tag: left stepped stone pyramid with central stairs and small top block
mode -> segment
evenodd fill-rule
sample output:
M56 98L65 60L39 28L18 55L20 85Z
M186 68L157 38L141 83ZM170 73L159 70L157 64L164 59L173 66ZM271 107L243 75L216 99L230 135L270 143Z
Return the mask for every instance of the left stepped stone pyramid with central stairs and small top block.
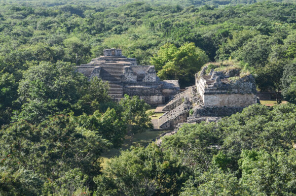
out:
M160 81L154 66L141 66L136 59L122 56L120 49L106 49L104 56L77 66L88 78L108 81L111 98L119 100L124 94L139 96L150 105L163 104L179 93L178 80Z

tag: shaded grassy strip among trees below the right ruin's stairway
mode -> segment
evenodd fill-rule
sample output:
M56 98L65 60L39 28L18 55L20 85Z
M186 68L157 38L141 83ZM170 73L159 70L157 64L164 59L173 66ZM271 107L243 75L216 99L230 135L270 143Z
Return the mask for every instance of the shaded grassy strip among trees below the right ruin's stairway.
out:
M127 150L131 146L146 146L152 139L156 138L158 135L160 135L163 132L165 131L146 131L143 133L135 134L132 144L130 143L130 137L126 135L120 149L113 148L109 152L106 152L102 155L103 163L101 163L101 166L105 167L106 163L110 161L111 158L119 156L120 151Z

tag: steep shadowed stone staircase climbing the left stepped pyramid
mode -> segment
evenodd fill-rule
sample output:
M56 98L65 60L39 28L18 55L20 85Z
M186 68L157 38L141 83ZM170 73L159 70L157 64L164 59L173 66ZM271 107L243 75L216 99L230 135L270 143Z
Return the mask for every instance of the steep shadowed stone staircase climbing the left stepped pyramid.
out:
M101 65L101 78L104 82L109 82L109 96L114 100L123 98L123 84L121 75L125 65Z

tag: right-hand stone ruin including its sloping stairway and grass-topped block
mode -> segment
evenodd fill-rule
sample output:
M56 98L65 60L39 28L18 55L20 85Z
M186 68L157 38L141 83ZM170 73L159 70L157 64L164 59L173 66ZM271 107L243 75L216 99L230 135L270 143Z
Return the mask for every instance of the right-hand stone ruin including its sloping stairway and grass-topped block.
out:
M235 65L210 65L195 75L194 86L162 107L165 113L153 119L155 129L174 130L182 123L217 121L259 102L252 74Z

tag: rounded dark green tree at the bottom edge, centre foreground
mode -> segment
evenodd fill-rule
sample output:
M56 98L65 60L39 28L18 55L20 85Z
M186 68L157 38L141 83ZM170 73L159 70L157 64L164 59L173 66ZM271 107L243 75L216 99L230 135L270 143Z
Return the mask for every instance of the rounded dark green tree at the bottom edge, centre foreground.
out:
M155 144L131 148L107 164L96 179L96 196L178 195L187 180L186 167Z

